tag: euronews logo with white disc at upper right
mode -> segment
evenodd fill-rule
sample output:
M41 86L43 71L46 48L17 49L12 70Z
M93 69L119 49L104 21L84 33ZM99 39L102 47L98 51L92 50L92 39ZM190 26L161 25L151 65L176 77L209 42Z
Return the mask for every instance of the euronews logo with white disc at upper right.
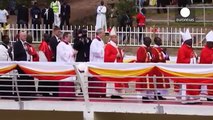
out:
M189 9L187 7L181 8L176 14L176 22L195 22L195 12L194 9Z

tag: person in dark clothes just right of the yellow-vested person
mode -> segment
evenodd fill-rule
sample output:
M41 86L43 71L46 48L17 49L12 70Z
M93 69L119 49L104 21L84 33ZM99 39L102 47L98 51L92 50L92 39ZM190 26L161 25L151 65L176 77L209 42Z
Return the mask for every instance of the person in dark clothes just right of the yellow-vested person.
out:
M66 25L69 28L70 25L70 5L67 4L66 1L61 5L61 29Z

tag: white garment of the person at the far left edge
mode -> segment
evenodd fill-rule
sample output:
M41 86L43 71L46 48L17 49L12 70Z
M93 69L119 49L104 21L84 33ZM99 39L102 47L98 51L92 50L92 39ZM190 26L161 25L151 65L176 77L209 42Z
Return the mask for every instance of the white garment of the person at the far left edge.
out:
M8 49L4 45L0 45L0 61L11 61Z

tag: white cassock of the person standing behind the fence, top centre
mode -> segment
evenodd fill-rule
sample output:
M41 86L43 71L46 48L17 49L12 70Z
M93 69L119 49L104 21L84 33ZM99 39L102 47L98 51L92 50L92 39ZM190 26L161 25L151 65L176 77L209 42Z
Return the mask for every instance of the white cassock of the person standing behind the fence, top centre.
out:
M104 28L104 30L107 31L106 12L107 8L105 6L98 6L95 26L96 30Z

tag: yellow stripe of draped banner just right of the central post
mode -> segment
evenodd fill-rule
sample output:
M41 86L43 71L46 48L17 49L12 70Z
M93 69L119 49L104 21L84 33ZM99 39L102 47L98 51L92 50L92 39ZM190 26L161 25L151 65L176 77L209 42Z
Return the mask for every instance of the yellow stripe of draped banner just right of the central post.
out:
M145 69L138 70L112 70L112 69L100 69L89 67L89 71L92 71L99 75L113 76L113 77L123 77L123 76L139 76L150 72L154 67L148 67Z

